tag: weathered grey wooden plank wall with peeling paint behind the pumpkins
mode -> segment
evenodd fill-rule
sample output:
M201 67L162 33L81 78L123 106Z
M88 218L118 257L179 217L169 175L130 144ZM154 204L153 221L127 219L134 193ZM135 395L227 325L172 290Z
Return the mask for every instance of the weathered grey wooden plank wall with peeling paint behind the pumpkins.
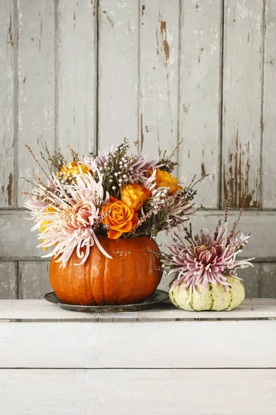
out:
M195 228L249 194L256 259L240 275L248 297L276 297L275 36L275 0L1 1L0 297L50 291L24 220L21 176L37 171L24 145L68 156L124 137L150 156L184 140L181 181L209 174Z

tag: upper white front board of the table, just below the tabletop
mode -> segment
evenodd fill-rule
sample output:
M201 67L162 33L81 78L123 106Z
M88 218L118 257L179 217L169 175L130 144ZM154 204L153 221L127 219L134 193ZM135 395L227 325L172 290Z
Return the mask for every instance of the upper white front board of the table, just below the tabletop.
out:
M276 320L0 323L1 368L276 368L275 346Z

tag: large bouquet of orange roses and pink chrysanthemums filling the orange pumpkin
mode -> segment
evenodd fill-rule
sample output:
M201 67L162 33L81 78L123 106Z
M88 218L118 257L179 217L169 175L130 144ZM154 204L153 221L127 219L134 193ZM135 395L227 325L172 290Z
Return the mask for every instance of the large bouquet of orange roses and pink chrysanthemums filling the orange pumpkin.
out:
M169 157L165 152L149 160L130 153L125 140L97 155L79 157L71 149L68 163L61 151L51 156L47 146L43 148L41 158L49 172L28 147L45 179L33 172L36 182L24 205L36 222L32 230L39 230L39 246L52 248L44 257L54 256L62 266L74 250L83 264L95 244L110 257L98 234L114 240L156 237L162 230L179 227L195 212L195 181L182 187L172 176L176 149Z

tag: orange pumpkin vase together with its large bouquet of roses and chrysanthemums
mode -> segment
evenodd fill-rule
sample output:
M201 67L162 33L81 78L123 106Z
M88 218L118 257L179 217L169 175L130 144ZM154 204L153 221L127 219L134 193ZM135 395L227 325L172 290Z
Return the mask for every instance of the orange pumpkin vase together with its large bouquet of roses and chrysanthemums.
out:
M40 163L28 147L45 177L33 172L25 207L39 246L50 248L44 257L52 257L55 294L66 304L143 302L162 275L154 238L195 212L195 181L181 187L171 174L173 154L135 156L126 140L97 155L79 157L71 149L70 163L61 151L51 156L43 148Z

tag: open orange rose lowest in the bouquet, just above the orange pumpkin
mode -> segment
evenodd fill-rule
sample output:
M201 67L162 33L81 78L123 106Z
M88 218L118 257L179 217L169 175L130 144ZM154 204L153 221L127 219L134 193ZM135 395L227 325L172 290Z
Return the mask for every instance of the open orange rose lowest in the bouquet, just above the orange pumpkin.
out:
M100 214L108 212L102 222L109 226L108 238L118 239L124 232L130 232L138 223L134 209L110 196L111 201L101 208Z

